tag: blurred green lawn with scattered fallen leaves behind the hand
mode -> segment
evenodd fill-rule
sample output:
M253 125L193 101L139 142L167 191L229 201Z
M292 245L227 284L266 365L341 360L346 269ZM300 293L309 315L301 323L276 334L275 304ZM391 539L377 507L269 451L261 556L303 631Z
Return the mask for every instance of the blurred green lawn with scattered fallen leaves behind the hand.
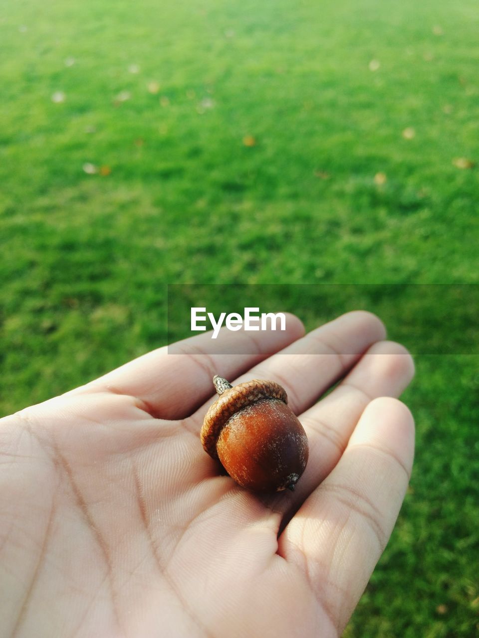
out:
M4 0L0 415L167 343L167 283L478 283L478 33L476 0ZM416 355L417 452L344 635L473 637L477 343L403 317L471 319L368 304Z

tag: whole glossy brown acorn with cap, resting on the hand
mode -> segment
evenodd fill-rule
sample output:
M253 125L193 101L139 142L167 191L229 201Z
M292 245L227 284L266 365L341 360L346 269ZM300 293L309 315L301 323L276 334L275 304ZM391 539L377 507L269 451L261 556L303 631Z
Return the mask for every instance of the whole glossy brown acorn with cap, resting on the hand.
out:
M201 443L239 485L255 492L294 490L308 461L308 438L285 389L254 379L232 387L221 376L206 413Z

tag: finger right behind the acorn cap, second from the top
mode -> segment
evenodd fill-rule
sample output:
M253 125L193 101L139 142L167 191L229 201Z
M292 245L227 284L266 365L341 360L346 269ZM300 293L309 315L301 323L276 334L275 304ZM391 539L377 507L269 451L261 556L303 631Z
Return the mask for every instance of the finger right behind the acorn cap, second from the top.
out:
M263 360L233 383L254 378L276 381L286 390L293 412L299 414L343 376L370 345L384 339L385 334L377 316L364 311L347 313ZM204 405L198 410L197 423L207 409L208 405Z

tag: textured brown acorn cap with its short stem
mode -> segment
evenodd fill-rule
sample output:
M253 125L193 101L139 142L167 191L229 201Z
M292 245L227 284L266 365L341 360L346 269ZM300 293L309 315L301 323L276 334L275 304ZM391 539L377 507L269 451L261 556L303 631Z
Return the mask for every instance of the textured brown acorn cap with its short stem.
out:
M217 377L215 377L216 379ZM218 387L216 382L215 385ZM238 385L222 392L215 403L210 406L201 427L201 443L209 456L218 459L218 436L230 417L260 399L279 399L286 404L288 402L286 391L279 383L261 379L238 383Z

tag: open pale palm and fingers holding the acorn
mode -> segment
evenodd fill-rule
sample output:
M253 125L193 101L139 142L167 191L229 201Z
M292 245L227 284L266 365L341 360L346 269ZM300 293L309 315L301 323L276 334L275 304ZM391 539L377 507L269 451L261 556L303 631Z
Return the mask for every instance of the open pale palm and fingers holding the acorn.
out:
M406 493L411 357L364 312L218 339L241 354L201 334L0 420L2 635L341 634ZM215 374L285 387L310 444L294 493L219 475L199 441Z

